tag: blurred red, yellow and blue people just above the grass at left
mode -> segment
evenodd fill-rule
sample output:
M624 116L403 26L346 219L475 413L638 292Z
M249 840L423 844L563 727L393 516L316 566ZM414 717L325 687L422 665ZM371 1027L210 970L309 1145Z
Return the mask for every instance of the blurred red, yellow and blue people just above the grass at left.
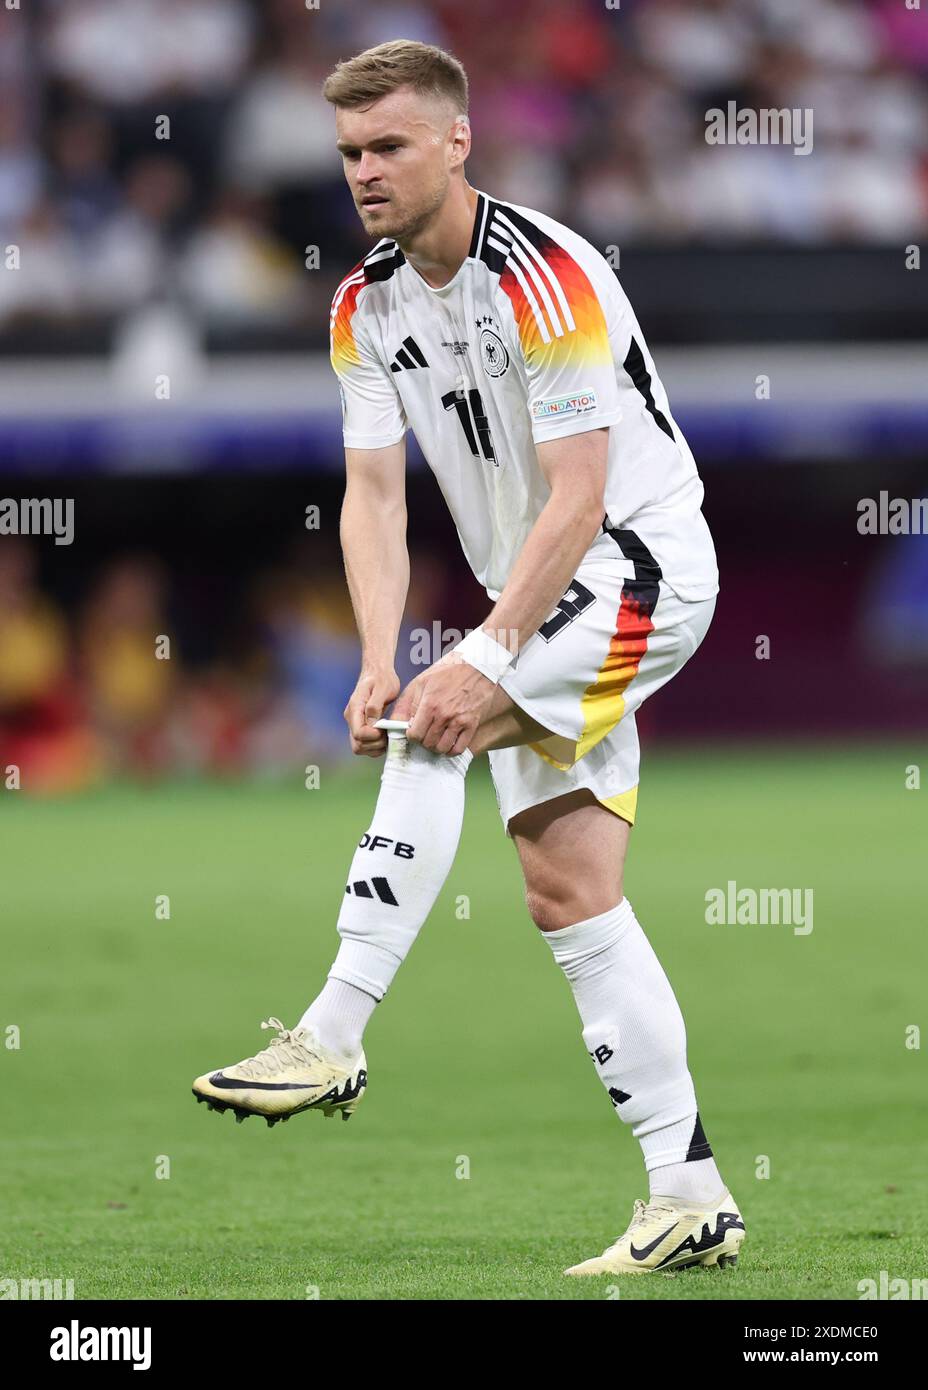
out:
M320 545L311 564L307 555L293 548L249 577L232 644L204 659L201 614L185 623L182 610L190 589L158 559L115 557L81 602L60 603L40 584L33 545L3 537L0 780L13 767L22 790L56 794L114 776L285 776L350 760L342 712L360 667L354 619L338 557ZM432 637L449 581L426 550L413 549L411 567L403 685L440 655L421 634Z

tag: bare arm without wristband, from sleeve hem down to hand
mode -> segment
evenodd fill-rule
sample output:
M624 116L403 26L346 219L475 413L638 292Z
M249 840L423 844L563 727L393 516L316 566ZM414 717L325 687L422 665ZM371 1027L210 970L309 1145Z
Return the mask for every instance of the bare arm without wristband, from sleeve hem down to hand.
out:
M386 734L374 728L400 692L396 642L410 584L406 545L406 441L346 449L340 538L361 639L361 674L345 706L351 751L378 758Z

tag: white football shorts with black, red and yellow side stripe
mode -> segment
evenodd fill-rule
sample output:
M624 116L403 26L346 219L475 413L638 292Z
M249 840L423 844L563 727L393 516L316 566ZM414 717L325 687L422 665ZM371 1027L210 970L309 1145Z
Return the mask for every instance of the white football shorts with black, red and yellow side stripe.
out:
M618 531L628 564L586 559L510 670L503 689L552 738L488 753L500 816L589 788L633 824L639 744L635 710L665 685L700 645L715 598L685 603L650 552Z

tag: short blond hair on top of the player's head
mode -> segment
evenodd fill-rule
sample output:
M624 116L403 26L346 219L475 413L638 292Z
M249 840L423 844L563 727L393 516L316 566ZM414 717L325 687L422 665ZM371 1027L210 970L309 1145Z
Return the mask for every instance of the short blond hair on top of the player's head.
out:
M428 96L445 97L457 115L467 115L467 72L445 49L414 39L393 39L339 63L322 85L332 106L370 106L378 97L411 86Z

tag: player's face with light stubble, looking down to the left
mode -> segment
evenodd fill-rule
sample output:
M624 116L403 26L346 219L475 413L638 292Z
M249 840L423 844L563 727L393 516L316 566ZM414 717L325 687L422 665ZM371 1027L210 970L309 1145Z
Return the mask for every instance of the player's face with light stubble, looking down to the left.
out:
M446 103L411 88L364 110L336 108L338 147L365 232L403 245L428 225L461 163L457 125Z

